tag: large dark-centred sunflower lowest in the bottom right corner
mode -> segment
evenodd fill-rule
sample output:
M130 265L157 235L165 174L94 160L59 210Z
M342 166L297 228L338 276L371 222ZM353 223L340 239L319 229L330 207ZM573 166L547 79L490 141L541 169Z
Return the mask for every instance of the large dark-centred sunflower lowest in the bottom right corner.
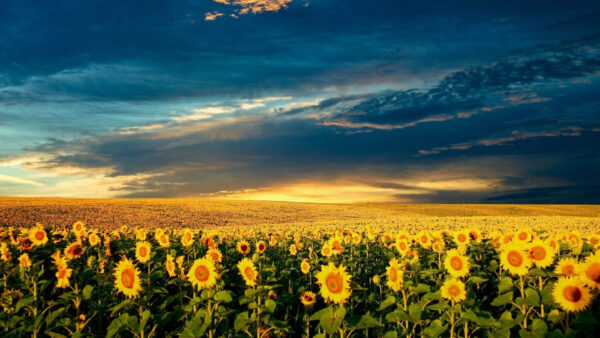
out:
M590 289L577 277L561 277L552 290L554 301L567 312L584 310L592 301Z

